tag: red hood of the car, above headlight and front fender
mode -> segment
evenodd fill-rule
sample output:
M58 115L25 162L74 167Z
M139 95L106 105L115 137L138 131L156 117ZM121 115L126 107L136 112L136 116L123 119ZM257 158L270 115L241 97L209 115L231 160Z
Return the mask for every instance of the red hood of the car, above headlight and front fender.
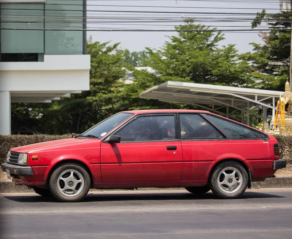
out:
M54 149L54 150L64 149L64 148L73 149L73 148L79 148L79 146L81 145L82 147L86 148L87 144L99 144L99 143L100 143L100 139L97 139L97 138L66 138L66 139L53 140L53 141L20 146L17 148L10 149L10 151L18 152L18 153L33 153L33 152L47 151L49 149Z

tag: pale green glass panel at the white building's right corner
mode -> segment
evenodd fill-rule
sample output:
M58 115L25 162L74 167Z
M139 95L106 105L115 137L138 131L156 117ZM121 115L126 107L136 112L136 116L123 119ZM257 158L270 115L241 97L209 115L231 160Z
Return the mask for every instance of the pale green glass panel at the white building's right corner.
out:
M82 29L82 10L83 0L47 0L45 29ZM82 50L82 31L45 31L45 54L82 54Z

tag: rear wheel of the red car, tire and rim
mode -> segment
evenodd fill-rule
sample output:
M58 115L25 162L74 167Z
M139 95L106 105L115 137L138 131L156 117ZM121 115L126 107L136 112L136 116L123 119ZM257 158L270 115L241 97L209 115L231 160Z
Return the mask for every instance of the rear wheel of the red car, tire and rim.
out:
M219 198L238 198L247 188L248 174L240 163L226 161L213 170L209 185L212 192Z

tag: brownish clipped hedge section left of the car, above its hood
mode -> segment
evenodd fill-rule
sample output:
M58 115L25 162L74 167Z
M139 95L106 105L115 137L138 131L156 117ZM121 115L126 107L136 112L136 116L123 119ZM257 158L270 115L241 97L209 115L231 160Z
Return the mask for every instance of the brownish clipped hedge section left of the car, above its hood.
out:
M12 148L70 137L71 135L0 135L0 163L6 161L7 152Z

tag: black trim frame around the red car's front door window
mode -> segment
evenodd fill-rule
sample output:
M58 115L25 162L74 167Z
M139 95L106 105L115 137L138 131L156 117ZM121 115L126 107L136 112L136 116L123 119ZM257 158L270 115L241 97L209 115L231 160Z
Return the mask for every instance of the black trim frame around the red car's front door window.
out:
M114 131L112 131L107 137L110 137L111 135L115 135L118 131L122 130L124 127L126 127L128 124L130 124L132 121L137 120L140 117L151 117L151 116L173 116L174 117L174 127L175 127L175 138L171 139L171 140L152 140L152 141L124 141L124 142L120 142L119 144L123 144L123 143L152 143L152 142L174 142L174 141L179 141L178 137L177 137L177 113L146 113L146 114L137 114L134 115L131 119L129 119L127 122L125 122L123 125L121 125L119 128L115 129ZM104 142L104 140L107 138L103 138L102 142ZM109 143L109 142L104 142L104 143Z

